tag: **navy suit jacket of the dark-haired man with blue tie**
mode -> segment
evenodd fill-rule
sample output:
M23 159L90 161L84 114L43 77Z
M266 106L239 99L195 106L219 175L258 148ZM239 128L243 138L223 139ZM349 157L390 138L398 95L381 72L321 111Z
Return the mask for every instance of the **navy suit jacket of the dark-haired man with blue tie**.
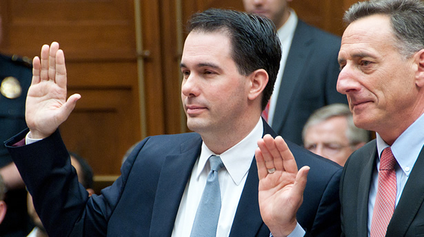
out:
M264 122L265 133L274 132ZM40 142L7 142L49 236L171 236L185 186L201 152L197 133L148 137L132 151L121 177L88 198L70 166L59 132ZM341 167L289 142L299 166L311 167L299 223L312 236L340 235ZM71 171L72 170L72 171ZM230 236L268 237L258 205L258 174L252 161Z

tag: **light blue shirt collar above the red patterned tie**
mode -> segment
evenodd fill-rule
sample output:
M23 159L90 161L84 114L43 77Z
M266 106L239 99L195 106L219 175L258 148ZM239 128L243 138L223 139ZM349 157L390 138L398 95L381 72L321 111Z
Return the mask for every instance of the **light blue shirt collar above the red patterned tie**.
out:
M392 144L392 153L407 176L410 175L412 168L421 149L424 146L424 115L418 117L411 126L409 126ZM384 140L376 133L378 159L387 145Z

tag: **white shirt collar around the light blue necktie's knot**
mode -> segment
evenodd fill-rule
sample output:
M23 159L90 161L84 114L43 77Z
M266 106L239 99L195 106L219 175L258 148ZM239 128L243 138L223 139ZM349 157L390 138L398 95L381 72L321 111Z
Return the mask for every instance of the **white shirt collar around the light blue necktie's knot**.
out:
M230 177L239 185L245 174L248 173L252 159L254 157L254 150L258 147L257 142L263 135L263 124L262 120L254 126L253 130L243 138L238 144L232 148L225 150L224 153L219 155L222 162L224 163L225 169L230 174ZM201 153L199 157L199 163L196 170L196 179L199 179L201 172L205 169L205 166L209 172L210 164L208 158L211 155L216 155L202 142Z

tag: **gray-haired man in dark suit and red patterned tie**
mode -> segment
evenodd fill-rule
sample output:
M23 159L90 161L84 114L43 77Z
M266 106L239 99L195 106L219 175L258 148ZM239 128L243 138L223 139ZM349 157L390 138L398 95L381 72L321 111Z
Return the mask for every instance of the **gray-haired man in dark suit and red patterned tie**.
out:
M340 190L343 236L422 236L424 2L363 1L345 12L344 21L337 89L347 95L356 126L375 131L376 139L345 163ZM275 142L264 141L263 161L273 160L266 148L275 153ZM285 151L274 157L285 156L287 175L295 175L293 164L290 168L287 163L293 159ZM299 172L299 183L304 179L305 173ZM271 183L270 177L264 175L261 183ZM279 193L272 184L268 197L301 202L301 185L288 182L282 188L286 192ZM296 208L279 214L270 209L272 202L259 201L265 223L279 234Z

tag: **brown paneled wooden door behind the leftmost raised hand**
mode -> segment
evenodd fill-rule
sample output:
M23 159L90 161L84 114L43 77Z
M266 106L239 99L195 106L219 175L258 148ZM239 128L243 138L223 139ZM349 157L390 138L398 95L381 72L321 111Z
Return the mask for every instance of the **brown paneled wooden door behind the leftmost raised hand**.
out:
M119 174L125 151L141 139L139 74L133 0L1 0L1 51L30 58L60 43L68 96L81 93L60 126L68 147L97 177Z

